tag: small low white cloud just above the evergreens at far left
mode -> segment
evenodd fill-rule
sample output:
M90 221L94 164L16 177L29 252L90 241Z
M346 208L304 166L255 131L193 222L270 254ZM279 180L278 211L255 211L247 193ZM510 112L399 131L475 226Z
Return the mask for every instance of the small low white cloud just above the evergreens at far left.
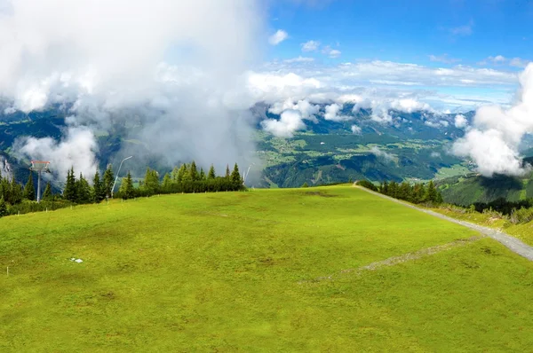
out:
M50 161L54 175L59 178L65 178L73 167L77 173L91 179L97 169L94 153L98 146L91 130L84 127L68 129L68 134L60 141L51 137L21 138L15 142L15 147L36 160Z

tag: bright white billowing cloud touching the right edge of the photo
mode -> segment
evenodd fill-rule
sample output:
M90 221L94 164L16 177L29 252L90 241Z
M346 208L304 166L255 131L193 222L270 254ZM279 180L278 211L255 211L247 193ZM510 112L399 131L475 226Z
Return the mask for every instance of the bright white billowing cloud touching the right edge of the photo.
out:
M525 134L533 132L533 64L521 73L520 84L514 106L481 107L465 137L452 146L453 153L471 158L483 176L521 175L525 171L519 145Z

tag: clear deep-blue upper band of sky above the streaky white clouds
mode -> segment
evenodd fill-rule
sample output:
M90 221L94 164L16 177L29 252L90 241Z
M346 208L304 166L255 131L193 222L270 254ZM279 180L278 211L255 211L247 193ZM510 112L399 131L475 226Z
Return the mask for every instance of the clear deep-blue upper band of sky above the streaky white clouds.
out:
M533 36L528 35L533 35L533 2L298 3L282 1L270 8L272 31L282 29L289 35L269 53L271 59L298 56L300 44L309 40L342 51L339 61L382 59L435 66L431 55L463 65L476 65L497 55L531 57ZM320 58L316 53L308 55Z

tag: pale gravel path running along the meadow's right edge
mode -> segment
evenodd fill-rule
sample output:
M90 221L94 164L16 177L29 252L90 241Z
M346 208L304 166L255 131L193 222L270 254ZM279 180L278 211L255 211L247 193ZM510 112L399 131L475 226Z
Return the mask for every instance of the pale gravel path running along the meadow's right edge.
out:
M366 188L358 186L358 185L354 185L354 187L356 187L358 189L361 189L361 190L364 190L365 192L373 193L374 195L379 196L379 197L381 197L383 199L387 199L387 200L391 200L391 201L396 202L396 203L400 203L403 206L406 206L408 208L413 208L413 209L416 209L416 210L418 210L420 212L424 212L424 213L426 213L428 215L439 217L439 218L444 219L446 221L453 222L454 224L463 225L465 227L473 229L474 231L479 231L479 232L481 232L481 234L484 234L484 235L488 236L489 238L492 238L492 239L495 239L495 240L499 241L505 247L507 247L511 251L513 251L514 253L527 258L529 261L533 261L533 247L529 247L529 245L524 244L523 242L521 242L521 240L516 239L514 237L511 237L510 235L507 235L507 234L505 234L502 231L497 231L497 230L489 228L489 227L483 227L483 226L478 225L478 224L471 224L469 222L460 221L458 219L455 219L455 218L452 218L452 217L449 217L449 216L441 215L440 213L434 212L434 211L429 210L429 209L418 208L417 206L411 205L410 203L404 202L402 200L396 200L396 199L394 199L392 197L389 197L389 196L386 196L386 195L384 195L382 193L373 192L373 191L371 191L369 189L366 189Z

